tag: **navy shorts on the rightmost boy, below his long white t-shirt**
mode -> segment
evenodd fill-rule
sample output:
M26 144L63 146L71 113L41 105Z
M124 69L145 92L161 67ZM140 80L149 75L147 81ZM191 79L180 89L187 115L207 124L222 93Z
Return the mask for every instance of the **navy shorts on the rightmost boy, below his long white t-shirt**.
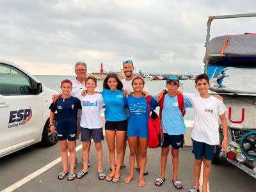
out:
M193 154L195 159L207 159L212 160L214 153L220 148L220 145L209 145L200 141L192 140L193 142Z

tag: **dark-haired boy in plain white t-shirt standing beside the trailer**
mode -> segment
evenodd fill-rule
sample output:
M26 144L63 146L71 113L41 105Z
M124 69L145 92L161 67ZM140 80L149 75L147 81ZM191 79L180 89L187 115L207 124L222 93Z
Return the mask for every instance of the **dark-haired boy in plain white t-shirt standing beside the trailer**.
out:
M210 83L207 74L196 76L195 88L198 90L199 95L183 93L189 98L195 111L195 125L191 133L193 141L192 152L195 154L195 185L193 188L189 189L189 192L199 191L199 178L202 163L204 163L202 192L206 192L211 172L212 157L220 144L218 116L221 120L224 136L221 143L221 150L227 150L228 128L227 118L225 116L227 108L222 100L218 100L216 97L209 94Z

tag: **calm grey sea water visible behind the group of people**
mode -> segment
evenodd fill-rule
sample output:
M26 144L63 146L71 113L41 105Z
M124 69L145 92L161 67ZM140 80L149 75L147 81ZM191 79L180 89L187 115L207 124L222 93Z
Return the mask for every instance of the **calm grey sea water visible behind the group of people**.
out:
M60 93L60 83L63 79L74 79L76 76L35 76L45 86ZM198 93L195 89L194 80L180 80L182 83L182 92ZM102 90L103 81L97 81L97 87ZM146 81L148 92L150 95L157 95L161 90L166 88L166 81ZM157 109L159 111L159 109ZM186 109L185 120L194 120L195 114L192 108Z

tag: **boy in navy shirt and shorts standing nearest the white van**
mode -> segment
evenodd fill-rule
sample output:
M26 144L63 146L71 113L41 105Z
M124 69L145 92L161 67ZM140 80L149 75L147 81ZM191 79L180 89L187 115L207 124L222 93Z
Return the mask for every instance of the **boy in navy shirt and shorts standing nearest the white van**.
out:
M62 95L60 98L52 102L49 109L50 112L50 131L54 132L55 127L53 124L54 112L58 112L56 131L57 138L61 147L61 159L63 170L58 175L58 179L62 180L68 173L68 151L70 152L70 173L68 180L74 180L75 175L75 161L76 161L76 132L77 132L77 109L81 109L81 102L76 97L72 97L70 92L72 90L72 81L64 79L61 81Z

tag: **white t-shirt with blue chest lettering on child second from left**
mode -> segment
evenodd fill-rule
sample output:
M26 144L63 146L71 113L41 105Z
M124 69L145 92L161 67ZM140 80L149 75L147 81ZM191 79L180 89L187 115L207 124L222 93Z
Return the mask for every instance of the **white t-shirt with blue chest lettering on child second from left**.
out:
M81 101L82 117L80 126L88 129L99 129L102 127L100 111L104 105L103 97L100 93L93 95L81 94L76 96Z

